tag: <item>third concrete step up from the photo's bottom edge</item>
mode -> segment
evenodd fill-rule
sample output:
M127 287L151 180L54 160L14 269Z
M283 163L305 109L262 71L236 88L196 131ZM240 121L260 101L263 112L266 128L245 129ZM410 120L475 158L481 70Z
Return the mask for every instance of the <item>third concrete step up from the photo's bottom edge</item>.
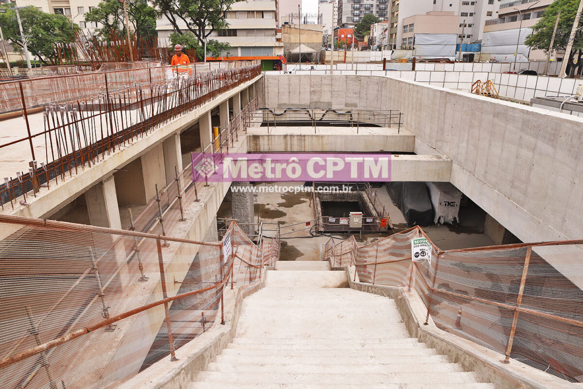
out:
M326 358L321 358L321 362ZM336 365L333 363L264 363L255 365L252 363L229 363L212 362L206 368L208 372L224 373L321 373L326 374L350 374L350 373L415 373L419 369L424 373L458 373L463 372L462 367L457 363L424 363L420 366L417 363L354 363L346 365Z

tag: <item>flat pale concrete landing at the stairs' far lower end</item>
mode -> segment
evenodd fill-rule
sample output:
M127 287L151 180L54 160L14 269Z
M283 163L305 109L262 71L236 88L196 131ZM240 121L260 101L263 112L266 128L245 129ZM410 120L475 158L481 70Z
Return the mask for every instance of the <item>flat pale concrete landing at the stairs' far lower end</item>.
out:
M293 288L348 288L346 272L287 270L267 272L265 286L287 286Z

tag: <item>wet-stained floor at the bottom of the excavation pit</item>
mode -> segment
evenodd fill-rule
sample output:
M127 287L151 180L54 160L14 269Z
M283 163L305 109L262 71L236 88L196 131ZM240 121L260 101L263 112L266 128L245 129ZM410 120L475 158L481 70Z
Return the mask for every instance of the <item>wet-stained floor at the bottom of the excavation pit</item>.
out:
M301 183L263 183L256 187L295 187ZM395 232L408 228L401 211L392 204L384 187L377 188L377 195L387 208ZM224 201L217 213L219 218L231 218L231 203ZM423 227L430 239L442 250L491 246L493 241L484 234L486 213L469 201L469 205L460 210L460 223L451 225ZM255 198L255 220L264 223L279 223L282 234L280 259L282 261L318 261L321 258L321 246L328 236L311 236L311 226L305 223L314 219L314 209L310 204L309 192L273 192L261 191ZM268 227L273 228L273 227ZM392 232L391 232L392 233ZM269 236L268 233L265 233ZM388 234L363 234L360 245L371 243ZM359 237L357 236L357 240Z

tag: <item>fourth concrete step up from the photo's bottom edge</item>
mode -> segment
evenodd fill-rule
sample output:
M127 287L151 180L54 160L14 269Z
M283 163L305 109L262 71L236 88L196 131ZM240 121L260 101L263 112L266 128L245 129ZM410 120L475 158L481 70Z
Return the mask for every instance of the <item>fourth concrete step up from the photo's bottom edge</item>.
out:
M306 355L219 355L216 362L218 363L241 363L253 365L265 365L268 363L276 364L306 364L312 365L325 361L332 365L351 365L357 366L363 363L363 356L312 356ZM424 363L449 363L445 355L371 355L366 359L366 363L370 365L387 365L387 364L424 364ZM419 368L419 367L418 367Z

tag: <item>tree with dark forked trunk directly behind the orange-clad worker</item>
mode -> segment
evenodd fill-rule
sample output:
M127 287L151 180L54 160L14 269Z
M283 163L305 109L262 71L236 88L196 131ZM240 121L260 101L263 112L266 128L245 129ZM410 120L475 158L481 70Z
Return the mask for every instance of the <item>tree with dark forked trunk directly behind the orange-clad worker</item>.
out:
M215 30L229 26L226 11L233 3L242 0L153 0L154 6L167 17L174 31L190 31L203 45L205 39ZM180 24L186 25L185 31ZM208 44L207 44L208 48Z

